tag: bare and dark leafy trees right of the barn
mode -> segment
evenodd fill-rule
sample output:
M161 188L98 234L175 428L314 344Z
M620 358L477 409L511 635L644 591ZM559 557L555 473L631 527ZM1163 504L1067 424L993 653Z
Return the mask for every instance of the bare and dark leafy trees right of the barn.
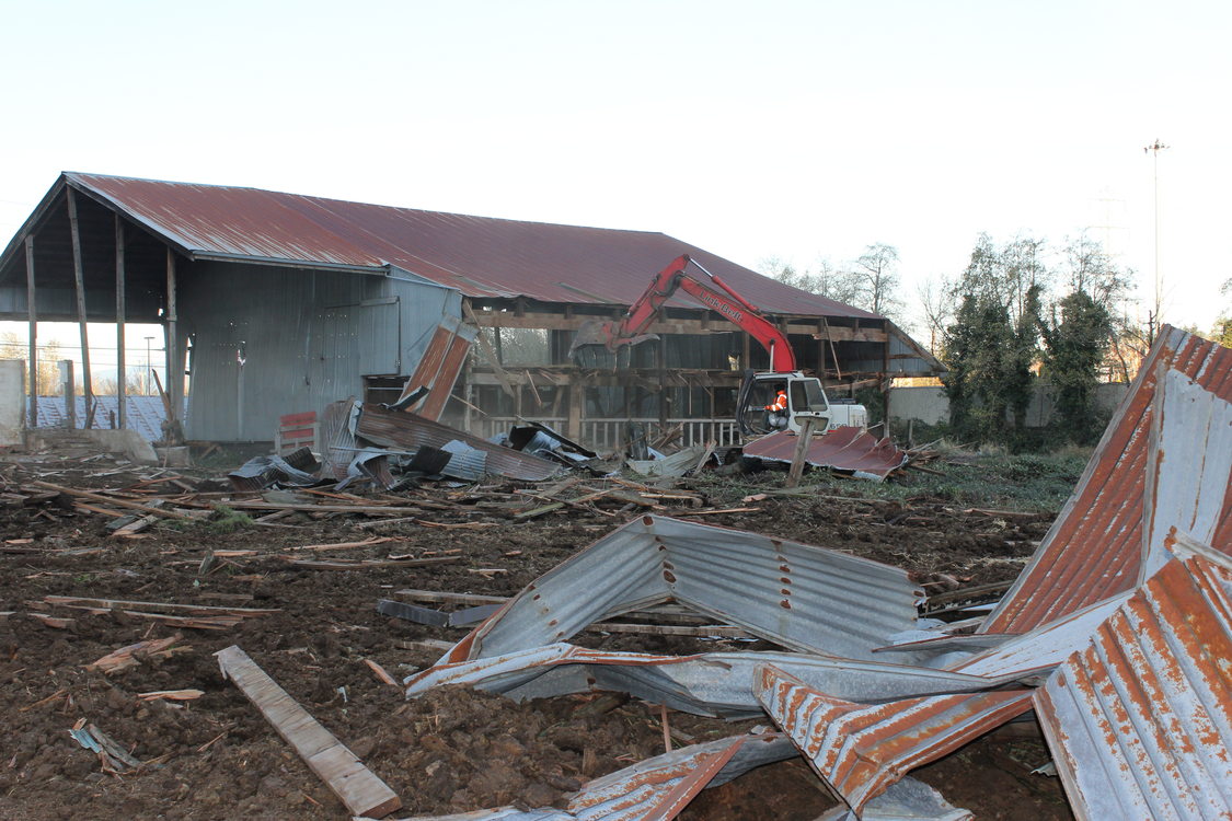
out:
M926 334L949 369L941 377L950 400L945 433L962 442L1015 451L1094 443L1106 422L1098 384L1129 382L1158 332L1158 306L1146 321L1137 318L1132 271L1087 235L1053 250L1044 239L997 242L982 234L963 271L919 287L914 322L904 321L897 262L894 246L875 244L844 265L796 271L769 260L763 272ZM1232 279L1222 290L1232 295ZM1210 332L1185 330L1232 345L1232 310ZM1055 406L1042 435L1026 427L1040 380Z

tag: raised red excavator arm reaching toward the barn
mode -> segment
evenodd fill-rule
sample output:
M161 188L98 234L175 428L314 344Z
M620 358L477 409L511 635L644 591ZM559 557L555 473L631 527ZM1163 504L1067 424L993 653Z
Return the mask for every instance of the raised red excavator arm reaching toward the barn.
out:
M689 272L690 265L696 266L706 274L706 278L702 279ZM787 343L786 334L763 316L756 306L736 293L726 282L701 267L695 260L691 260L689 255L676 257L671 265L660 271L646 293L628 306L620 322L605 322L598 330L595 340L583 340L584 334L579 332L579 338L573 343L573 347L600 342L610 351L615 351L622 345L642 341L647 329L659 318L663 306L678 289L718 311L733 325L760 342L770 352L771 370L784 373L796 369L796 354L792 353L791 345Z

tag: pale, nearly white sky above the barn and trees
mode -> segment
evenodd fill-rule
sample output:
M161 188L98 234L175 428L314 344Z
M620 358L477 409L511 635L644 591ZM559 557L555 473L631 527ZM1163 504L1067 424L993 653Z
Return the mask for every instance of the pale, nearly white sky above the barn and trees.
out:
M1227 2L12 2L0 234L62 170L660 230L755 267L1090 229L1209 325ZM647 272L649 276L653 272Z

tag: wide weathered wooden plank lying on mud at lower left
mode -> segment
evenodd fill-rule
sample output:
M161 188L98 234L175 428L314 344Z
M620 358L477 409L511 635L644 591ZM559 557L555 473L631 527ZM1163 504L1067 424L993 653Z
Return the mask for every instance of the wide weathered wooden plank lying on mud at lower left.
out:
M214 656L223 676L240 688L282 740L334 790L351 815L379 819L402 807L402 800L388 784L365 767L346 745L312 718L238 645L219 650Z

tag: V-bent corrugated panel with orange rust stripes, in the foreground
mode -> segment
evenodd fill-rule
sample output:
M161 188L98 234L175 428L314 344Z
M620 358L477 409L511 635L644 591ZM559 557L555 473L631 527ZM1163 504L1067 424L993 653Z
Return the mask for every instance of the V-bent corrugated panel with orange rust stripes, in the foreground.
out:
M907 771L935 761L1031 707L1029 689L854 704L772 665L758 698L818 775L859 815Z

